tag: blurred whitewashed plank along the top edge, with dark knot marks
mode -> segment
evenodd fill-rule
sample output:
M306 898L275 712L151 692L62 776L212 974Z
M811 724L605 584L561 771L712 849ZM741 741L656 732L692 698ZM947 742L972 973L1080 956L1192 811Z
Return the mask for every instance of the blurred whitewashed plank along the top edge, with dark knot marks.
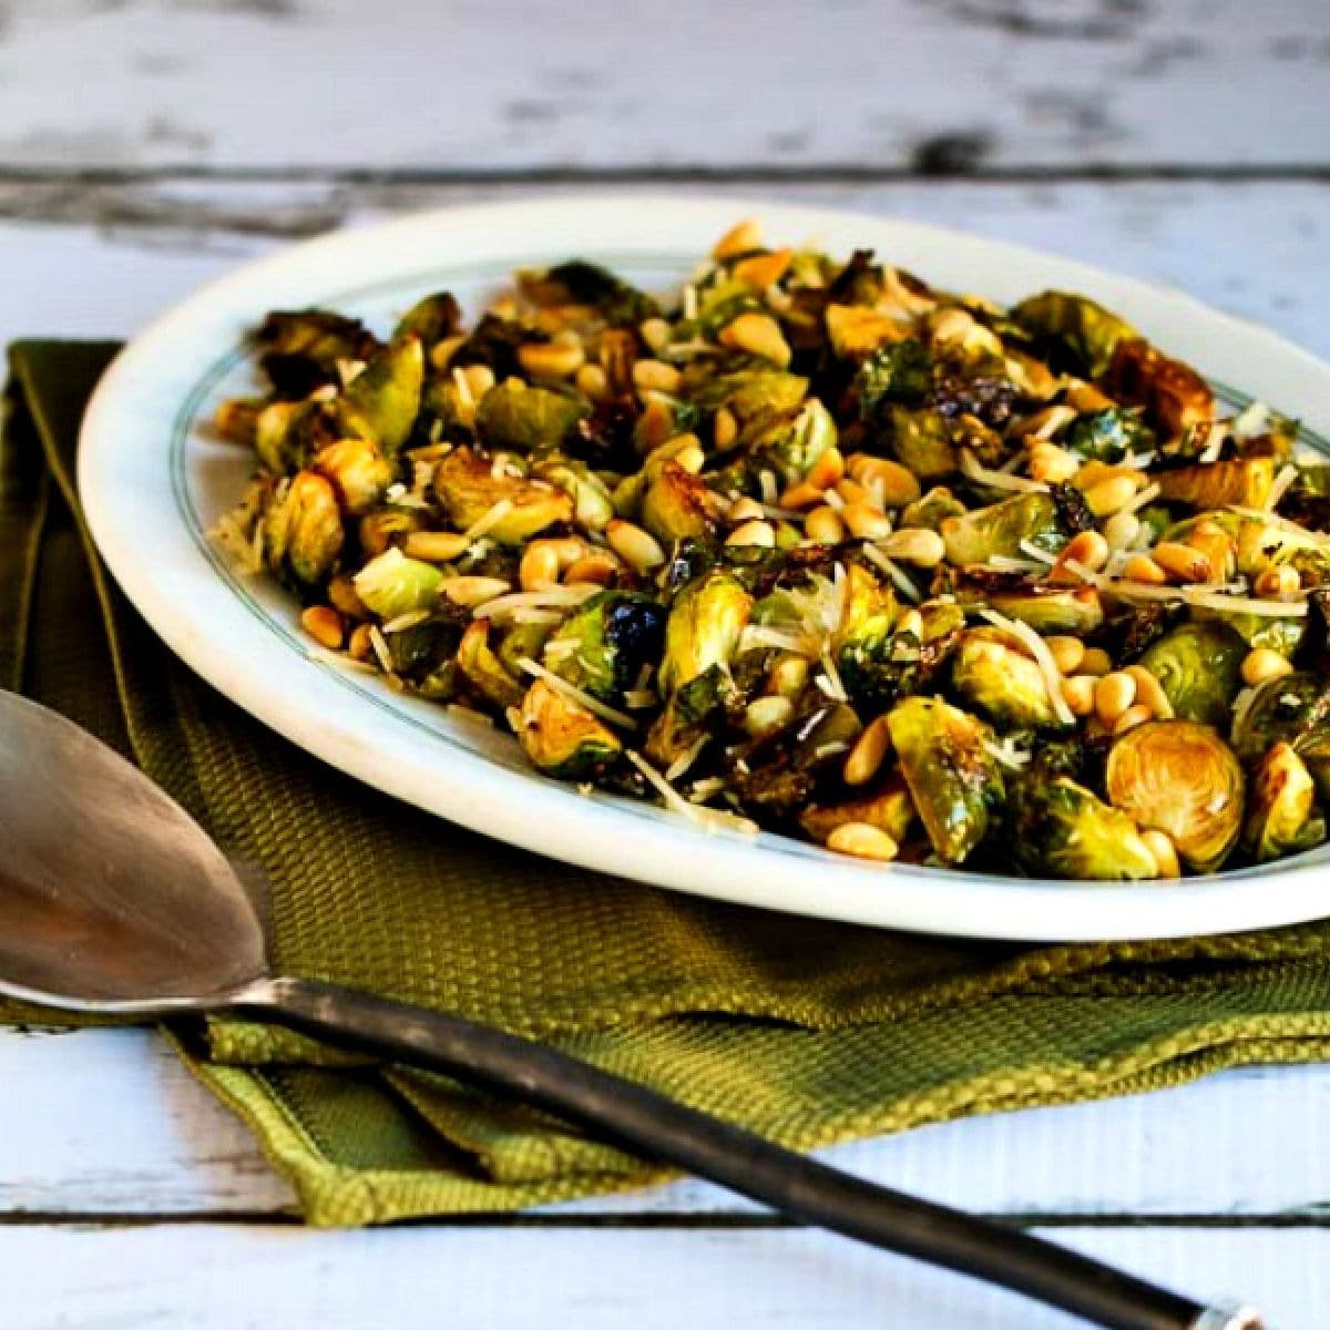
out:
M1319 0L60 0L7 7L0 164L1325 166ZM59 74L59 76L57 76ZM76 94L74 94L76 90Z

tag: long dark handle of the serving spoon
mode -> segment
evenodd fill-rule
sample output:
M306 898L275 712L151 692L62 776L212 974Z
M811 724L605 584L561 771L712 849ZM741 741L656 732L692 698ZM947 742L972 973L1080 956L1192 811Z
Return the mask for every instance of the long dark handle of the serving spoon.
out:
M515 1095L791 1218L960 1270L1113 1330L1260 1330L1025 1233L876 1186L527 1039L317 980L259 980L227 1004L325 1043Z

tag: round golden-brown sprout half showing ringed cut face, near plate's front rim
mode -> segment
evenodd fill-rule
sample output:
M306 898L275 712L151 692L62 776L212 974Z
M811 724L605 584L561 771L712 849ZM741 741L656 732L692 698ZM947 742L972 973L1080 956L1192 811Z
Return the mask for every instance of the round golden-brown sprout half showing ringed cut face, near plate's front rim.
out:
M1105 782L1115 807L1166 831L1197 872L1217 868L1242 830L1242 767L1209 725L1137 725L1109 750Z

